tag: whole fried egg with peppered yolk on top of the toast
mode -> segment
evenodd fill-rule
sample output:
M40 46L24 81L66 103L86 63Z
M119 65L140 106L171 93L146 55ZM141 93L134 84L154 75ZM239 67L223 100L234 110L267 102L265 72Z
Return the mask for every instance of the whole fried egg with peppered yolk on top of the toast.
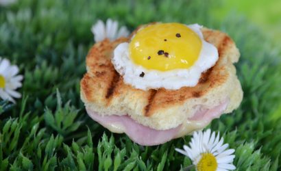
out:
M196 86L201 73L218 57L217 48L204 40L200 25L156 23L119 44L112 64L134 88L178 90Z

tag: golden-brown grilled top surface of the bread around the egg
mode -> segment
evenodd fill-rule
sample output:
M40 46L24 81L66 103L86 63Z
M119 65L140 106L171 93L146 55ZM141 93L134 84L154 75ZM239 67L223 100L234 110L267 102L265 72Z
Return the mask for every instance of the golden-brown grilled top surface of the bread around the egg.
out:
M140 114L149 118L156 114L156 111L184 105L191 99L203 99L210 91L219 88L226 81L230 82L230 73L234 73L231 78L236 79L232 63L239 60L239 51L228 35L206 28L202 29L202 32L204 39L217 47L219 60L215 66L201 74L197 86L183 87L179 90L160 88L145 91L125 84L111 63L114 48L129 40L119 38L114 42L103 40L90 49L86 57L87 73L81 81L82 100L101 108L112 107L118 101L127 101L128 104L125 105L130 106L129 103L134 103L134 106L140 107ZM130 102L130 98L136 100Z

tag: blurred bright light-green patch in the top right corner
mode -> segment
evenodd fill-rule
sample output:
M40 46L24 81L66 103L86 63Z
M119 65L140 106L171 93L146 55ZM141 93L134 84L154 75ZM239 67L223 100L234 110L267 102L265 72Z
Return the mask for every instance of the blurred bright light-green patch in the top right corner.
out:
M213 9L216 18L223 20L230 12L245 15L276 43L281 38L281 1L279 0L223 0ZM278 44L279 47L281 47Z

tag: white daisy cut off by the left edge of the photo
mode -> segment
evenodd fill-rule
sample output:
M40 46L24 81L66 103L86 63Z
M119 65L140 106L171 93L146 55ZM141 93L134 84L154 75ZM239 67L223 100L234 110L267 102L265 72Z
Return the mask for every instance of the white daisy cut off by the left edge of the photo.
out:
M16 103L14 98L20 98L21 94L16 88L22 86L23 75L17 75L19 67L10 64L9 60L0 57L0 98Z

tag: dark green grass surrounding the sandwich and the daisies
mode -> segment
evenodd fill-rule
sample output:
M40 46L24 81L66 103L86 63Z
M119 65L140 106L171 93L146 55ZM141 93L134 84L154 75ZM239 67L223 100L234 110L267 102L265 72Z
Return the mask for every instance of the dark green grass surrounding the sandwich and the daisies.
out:
M131 30L151 21L200 23L230 34L244 99L208 127L236 149L237 170L280 170L280 49L241 14L217 18L219 1L23 0L0 7L0 56L19 65L23 93L0 102L0 170L180 170L175 152L190 136L160 146L134 144L91 120L80 101L90 27L114 18Z

